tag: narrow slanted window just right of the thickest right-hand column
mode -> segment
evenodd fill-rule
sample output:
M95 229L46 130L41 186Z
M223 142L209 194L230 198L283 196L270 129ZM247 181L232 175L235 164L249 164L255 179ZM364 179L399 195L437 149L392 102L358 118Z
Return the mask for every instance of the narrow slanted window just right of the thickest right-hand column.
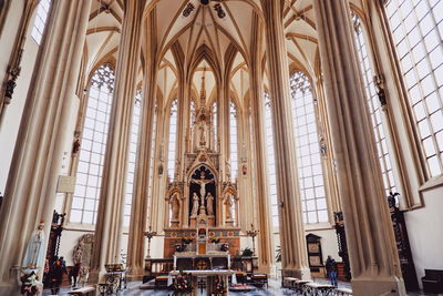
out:
M381 167L381 173L383 176L383 184L387 194L389 192L396 192L395 181L392 173L391 159L389 156L387 136L382 124L382 113L380 110L380 101L377 94L377 90L373 83L374 73L371 69L371 62L368 52L370 51L368 43L363 34L363 25L357 13L353 11L352 23L354 30L354 38L357 44L357 52L360 61L360 70L363 76L364 90L367 92L367 103L369 113L371 115L372 129L374 131L377 153L379 155L379 162Z

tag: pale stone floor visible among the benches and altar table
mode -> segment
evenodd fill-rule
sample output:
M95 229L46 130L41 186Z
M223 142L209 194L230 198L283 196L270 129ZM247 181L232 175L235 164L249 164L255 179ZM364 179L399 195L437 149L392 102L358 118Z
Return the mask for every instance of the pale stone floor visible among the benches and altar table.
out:
M324 283L327 284L327 279L316 278L315 282L317 283ZM173 293L171 290L141 290L138 286L141 282L132 282L128 283L127 289L120 293L120 296L171 296ZM349 283L339 282L339 287L350 287ZM68 292L71 290L71 287L64 287L60 290L61 296L69 296ZM43 292L43 296L51 295L49 289ZM200 294L204 295L204 294ZM286 295L295 295L293 292L289 289L281 289L280 282L270 279L268 288L256 289L249 293L229 293L231 296L286 296ZM443 294L439 294L443 295ZM423 293L409 293L408 296L436 296L435 294L423 294Z

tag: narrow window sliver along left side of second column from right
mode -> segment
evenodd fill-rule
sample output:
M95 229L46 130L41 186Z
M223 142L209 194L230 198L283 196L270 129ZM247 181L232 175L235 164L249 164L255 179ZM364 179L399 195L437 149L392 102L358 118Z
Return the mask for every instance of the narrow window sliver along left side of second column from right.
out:
M279 226L278 220L278 202L277 202L277 177L276 177L276 156L274 152L274 131L272 131L272 113L270 109L270 96L265 93L265 136L266 136L266 159L268 162L269 177L269 198L272 216L272 226Z

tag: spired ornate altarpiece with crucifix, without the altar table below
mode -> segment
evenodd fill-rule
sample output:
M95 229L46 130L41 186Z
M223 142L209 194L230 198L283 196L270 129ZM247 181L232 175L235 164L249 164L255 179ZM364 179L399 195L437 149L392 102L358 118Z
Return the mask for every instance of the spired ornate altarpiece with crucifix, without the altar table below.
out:
M204 89L204 88L202 88ZM199 226L207 222L206 242L229 244L229 253L239 251L237 184L229 172L222 175L220 154L216 152L213 114L206 108L202 91L199 109L193 114L188 152L184 154L185 172L166 191L167 227L165 227L164 256L172 257L177 245L185 242L189 253L196 253ZM229 171L229 170L227 170ZM190 242L189 242L190 241ZM202 249L200 252L202 253Z

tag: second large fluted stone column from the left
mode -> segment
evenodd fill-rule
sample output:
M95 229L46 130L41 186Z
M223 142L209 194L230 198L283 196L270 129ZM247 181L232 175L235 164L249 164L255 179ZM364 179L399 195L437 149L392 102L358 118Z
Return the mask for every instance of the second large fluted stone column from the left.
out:
M121 262L126 166L140 64L143 8L143 0L125 1L91 263L90 282L92 283L100 282L104 264Z

